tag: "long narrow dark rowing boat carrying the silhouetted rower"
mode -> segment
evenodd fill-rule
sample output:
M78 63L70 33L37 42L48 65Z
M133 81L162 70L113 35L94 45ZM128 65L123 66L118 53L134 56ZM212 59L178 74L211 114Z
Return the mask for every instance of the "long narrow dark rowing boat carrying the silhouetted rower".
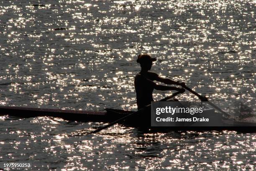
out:
M214 109L208 109L211 113L212 117L215 117L217 113L214 113ZM31 118L31 117L39 117L39 116L49 116L62 118L68 121L80 121L80 122L104 122L109 123L113 122L119 118L123 118L134 111L124 111L118 109L109 109L106 108L105 111L77 111L77 110L62 110L62 109L45 109L45 108L27 108L27 107L8 107L8 106L0 106L0 116L9 115L20 118ZM148 113L141 113L141 116L148 116L150 119L150 115ZM172 127L151 127L150 121L141 121L142 117L139 115L135 116L136 119L129 118L123 121L121 124L128 127L136 127L143 130L154 130L154 131L220 131L220 130L233 130L233 131L243 131L243 132L256 132L256 123L248 122L248 121L234 121L227 118L223 118L221 121L225 126L216 126L216 127L208 127L208 126L172 126ZM143 117L145 118L145 117ZM148 124L149 123L149 124Z

